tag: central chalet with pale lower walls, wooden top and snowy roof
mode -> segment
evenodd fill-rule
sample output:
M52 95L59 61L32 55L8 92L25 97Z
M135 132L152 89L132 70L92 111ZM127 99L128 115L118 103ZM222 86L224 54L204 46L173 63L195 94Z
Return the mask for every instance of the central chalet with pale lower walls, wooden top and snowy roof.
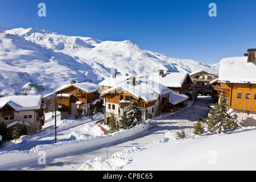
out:
M142 119L159 115L163 109L168 109L170 93L170 89L158 82L132 76L101 93L100 97L104 97L105 123L110 122L112 113L118 123L131 101L137 103Z

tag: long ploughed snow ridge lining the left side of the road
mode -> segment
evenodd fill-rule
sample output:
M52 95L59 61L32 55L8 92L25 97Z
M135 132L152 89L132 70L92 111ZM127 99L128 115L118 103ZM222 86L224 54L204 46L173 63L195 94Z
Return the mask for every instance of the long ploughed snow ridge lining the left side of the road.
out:
M66 125L68 119L63 121L63 125ZM69 124L70 121L69 121ZM101 144L111 143L119 139L131 137L135 134L141 133L142 131L148 130L150 123L143 122L141 125L135 126L130 130L120 130L113 134L102 135L102 136L89 136L85 137L78 131L74 131L69 135L69 139L64 142L52 143L52 144L40 144L30 150L13 150L13 151L2 151L0 152L1 164L9 164L14 162L21 162L24 160L38 159L39 151L46 152L47 158L51 156L60 155L62 151L73 152L79 150L86 150L88 148L93 148L100 146ZM99 127L100 128L100 127Z

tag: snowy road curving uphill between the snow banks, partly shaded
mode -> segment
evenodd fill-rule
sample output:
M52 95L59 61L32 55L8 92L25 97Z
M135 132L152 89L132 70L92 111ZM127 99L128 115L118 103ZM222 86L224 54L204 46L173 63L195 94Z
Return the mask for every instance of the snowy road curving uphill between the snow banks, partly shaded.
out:
M158 117L152 122L154 127L150 130L135 135L134 137L120 139L112 143L103 144L88 150L81 150L71 153L60 154L59 156L46 159L46 165L39 165L38 160L26 160L22 163L7 164L1 167L1 170L77 170L86 160L92 160L97 157L104 159L110 158L112 154L130 147L142 147L155 140L164 138L168 131L179 130L181 121L196 121L197 118L204 118L209 110L207 104L210 97L199 97L197 101L189 108L181 110L174 115ZM192 126L192 125L191 125ZM136 169L135 169L136 170Z

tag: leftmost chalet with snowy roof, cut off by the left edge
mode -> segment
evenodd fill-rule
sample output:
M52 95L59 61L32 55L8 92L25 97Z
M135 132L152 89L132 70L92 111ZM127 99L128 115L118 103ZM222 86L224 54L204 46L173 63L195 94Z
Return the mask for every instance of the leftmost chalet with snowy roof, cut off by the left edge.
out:
M17 122L29 127L44 125L45 104L42 96L9 96L0 98L0 122L12 128Z

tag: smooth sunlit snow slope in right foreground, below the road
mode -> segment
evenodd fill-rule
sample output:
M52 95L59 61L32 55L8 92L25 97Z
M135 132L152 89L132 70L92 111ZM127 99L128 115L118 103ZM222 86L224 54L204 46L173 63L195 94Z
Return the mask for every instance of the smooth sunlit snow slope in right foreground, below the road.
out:
M180 141L168 132L162 140L116 152L110 159L88 160L78 170L255 170L255 137L255 127Z

